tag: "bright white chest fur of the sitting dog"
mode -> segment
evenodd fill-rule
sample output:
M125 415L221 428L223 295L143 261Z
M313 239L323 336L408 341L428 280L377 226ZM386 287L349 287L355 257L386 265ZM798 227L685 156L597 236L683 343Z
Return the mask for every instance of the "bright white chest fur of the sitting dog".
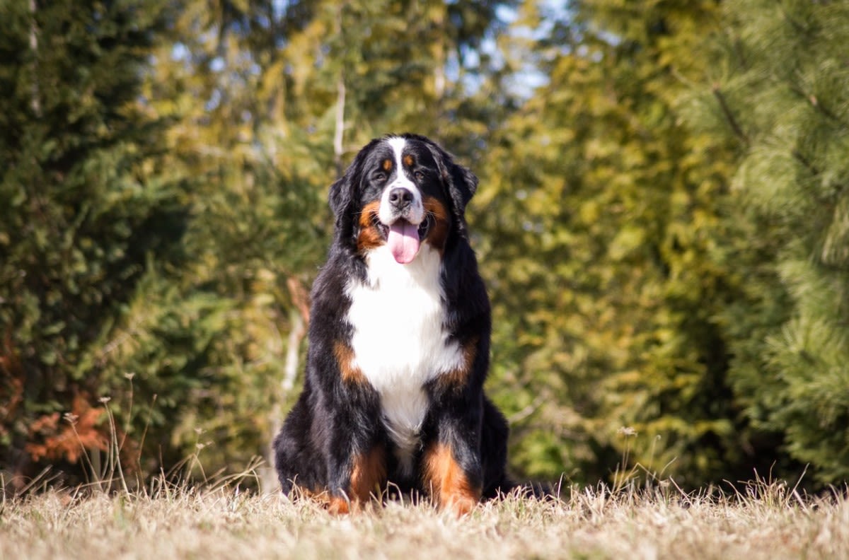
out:
M463 364L459 345L442 327L440 255L423 244L408 265L384 245L366 258L368 280L348 285L353 327L352 367L380 394L383 422L398 447L402 468L412 471L419 429L427 412L424 384Z

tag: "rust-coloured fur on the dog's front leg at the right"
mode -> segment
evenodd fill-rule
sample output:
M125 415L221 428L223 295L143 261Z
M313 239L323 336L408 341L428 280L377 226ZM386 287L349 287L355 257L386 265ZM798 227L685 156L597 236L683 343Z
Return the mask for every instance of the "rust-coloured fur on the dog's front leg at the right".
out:
M451 447L442 443L432 445L424 453L424 487L441 509L450 509L458 516L469 513L481 501L481 489L469 483L469 477L454 459Z

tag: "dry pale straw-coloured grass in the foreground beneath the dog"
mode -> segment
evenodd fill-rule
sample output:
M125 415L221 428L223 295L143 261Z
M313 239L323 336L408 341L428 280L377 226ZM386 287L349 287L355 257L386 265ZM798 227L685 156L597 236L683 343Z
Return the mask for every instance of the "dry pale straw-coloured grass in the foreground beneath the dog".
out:
M729 486L729 488L731 488ZM0 558L847 558L844 490L803 498L783 484L686 495L565 490L509 496L466 518L427 502L334 517L310 502L233 489L113 495L49 491L0 505Z

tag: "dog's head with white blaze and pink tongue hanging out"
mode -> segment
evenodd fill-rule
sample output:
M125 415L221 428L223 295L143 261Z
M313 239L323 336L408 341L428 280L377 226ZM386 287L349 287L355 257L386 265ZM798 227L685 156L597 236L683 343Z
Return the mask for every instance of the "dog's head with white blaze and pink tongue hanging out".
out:
M388 245L395 260L415 260L422 244L443 251L465 235L465 207L477 177L445 150L413 134L372 140L330 187L336 235L360 254Z

